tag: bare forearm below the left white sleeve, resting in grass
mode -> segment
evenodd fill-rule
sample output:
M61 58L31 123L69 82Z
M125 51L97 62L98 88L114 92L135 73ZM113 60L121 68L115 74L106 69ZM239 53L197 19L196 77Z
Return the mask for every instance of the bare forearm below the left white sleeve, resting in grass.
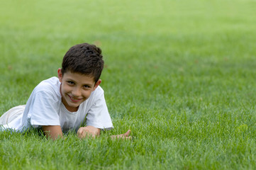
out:
M43 132L47 138L56 140L58 137L63 137L60 125L43 125Z

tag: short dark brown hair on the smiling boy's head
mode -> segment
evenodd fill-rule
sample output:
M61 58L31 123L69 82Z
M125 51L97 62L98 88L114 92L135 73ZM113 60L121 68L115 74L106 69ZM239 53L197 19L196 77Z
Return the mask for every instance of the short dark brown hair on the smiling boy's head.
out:
M98 81L104 68L101 49L95 45L82 43L71 47L62 60L62 74L75 72L94 77Z

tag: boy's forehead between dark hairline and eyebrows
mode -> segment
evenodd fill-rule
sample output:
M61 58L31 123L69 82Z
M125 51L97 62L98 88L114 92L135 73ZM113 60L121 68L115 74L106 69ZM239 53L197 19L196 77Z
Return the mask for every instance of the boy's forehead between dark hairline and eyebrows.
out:
M69 79L82 84L94 84L94 77L87 74L81 74L77 72L65 72L63 79Z

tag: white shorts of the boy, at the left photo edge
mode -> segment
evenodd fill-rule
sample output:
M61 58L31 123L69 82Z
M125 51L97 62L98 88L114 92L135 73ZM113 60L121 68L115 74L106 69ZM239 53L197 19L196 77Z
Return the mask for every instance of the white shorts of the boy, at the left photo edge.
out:
M25 107L26 105L16 106L4 113L4 115L1 115L0 125L7 125L8 123L11 123L11 121L15 118L18 118L19 115L24 113Z

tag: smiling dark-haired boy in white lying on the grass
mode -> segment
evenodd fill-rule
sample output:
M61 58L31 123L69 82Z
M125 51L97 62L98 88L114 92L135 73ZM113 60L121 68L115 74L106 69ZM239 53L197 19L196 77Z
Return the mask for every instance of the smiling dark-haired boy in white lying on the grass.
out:
M104 68L101 49L87 43L71 47L62 60L57 77L46 79L35 87L26 106L17 106L0 118L2 130L23 132L40 128L55 140L63 132L76 130L80 138L100 135L100 130L113 128L101 72ZM84 124L85 127L81 127ZM113 137L128 138L130 130Z

